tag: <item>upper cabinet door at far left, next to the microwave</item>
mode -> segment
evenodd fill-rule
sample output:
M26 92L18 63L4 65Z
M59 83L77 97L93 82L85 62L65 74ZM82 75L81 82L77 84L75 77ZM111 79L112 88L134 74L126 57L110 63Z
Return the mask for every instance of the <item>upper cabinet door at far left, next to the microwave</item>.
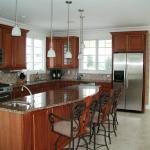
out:
M7 28L2 29L2 57L3 63L0 68L11 68L12 66L12 52L11 52L11 30Z

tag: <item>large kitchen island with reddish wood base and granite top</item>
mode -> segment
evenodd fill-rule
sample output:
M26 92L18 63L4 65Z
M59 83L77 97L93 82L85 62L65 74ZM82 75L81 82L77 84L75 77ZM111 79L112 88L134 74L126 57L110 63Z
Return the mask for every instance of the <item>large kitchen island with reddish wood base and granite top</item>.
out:
M48 114L68 117L76 102L87 96L97 99L99 86L75 85L62 89L26 96L15 101L30 104L29 107L0 104L0 149L5 150L53 150L57 136L51 132ZM62 139L61 146L67 144Z

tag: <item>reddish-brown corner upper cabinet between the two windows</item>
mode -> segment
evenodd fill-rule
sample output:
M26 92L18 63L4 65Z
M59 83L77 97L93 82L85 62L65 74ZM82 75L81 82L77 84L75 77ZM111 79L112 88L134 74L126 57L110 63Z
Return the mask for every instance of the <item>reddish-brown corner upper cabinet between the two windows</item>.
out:
M53 48L56 53L55 58L47 58L47 68L77 68L78 53L79 53L79 38L75 36L69 37L70 50L72 53L71 59L64 57L67 51L67 37L53 37ZM46 39L46 49L50 48L50 38Z

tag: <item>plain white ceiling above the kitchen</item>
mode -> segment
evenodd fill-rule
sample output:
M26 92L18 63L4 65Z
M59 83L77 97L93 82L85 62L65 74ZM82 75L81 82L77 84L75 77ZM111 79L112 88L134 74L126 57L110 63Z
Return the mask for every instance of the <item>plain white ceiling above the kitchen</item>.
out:
M72 0L70 28L78 29L79 8L85 10L84 28L150 26L150 0ZM14 20L15 0L0 0L0 17ZM23 17L25 16L25 17ZM50 0L18 0L18 21L50 30ZM54 30L66 30L65 0L54 0Z

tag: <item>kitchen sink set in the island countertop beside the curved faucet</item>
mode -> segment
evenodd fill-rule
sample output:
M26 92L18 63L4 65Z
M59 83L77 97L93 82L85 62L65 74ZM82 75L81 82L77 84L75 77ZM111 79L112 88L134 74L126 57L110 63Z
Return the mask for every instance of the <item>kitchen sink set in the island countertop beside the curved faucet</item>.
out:
M30 109L31 104L24 101L8 101L2 103L5 106L17 109Z

